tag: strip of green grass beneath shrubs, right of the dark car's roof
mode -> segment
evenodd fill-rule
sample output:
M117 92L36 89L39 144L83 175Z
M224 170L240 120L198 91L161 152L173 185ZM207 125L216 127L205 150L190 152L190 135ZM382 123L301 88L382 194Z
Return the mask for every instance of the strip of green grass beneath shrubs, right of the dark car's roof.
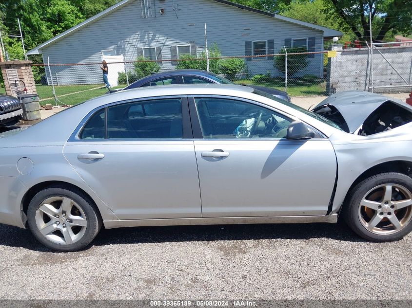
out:
M244 79L244 80L236 80L235 83L264 86L264 87L269 87L269 88L274 88L277 90L285 91L284 86L277 86L275 85L274 82L271 82L271 81L257 83L250 79ZM315 83L312 85L305 85L305 86L290 85L288 86L287 92L292 97L325 95L326 82L320 82L320 83Z

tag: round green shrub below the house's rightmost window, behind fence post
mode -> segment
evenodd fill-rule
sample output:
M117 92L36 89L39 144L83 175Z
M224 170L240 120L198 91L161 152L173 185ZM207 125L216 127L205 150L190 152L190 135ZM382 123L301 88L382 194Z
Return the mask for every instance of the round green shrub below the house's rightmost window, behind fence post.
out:
M289 47L286 50L288 52L288 76L293 76L295 73L308 67L308 54L295 54L306 53L308 50L305 47ZM280 72L285 73L285 49L279 50L278 54L283 55L275 56L274 67Z

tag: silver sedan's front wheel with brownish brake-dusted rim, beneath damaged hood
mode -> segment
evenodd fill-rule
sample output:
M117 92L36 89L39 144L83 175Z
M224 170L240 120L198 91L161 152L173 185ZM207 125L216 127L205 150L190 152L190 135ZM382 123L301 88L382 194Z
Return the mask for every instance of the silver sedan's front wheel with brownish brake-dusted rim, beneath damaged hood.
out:
M369 241L402 239L412 231L412 179L389 172L359 182L349 192L342 215L357 235Z

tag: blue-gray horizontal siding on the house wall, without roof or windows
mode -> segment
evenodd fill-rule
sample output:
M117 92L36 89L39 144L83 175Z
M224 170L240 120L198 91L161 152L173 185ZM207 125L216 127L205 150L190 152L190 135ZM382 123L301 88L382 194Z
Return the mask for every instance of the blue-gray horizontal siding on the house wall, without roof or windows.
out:
M127 55L126 60L137 58L139 47L160 47L163 60L171 59L171 46L196 44L197 54L205 45L204 23L207 23L209 47L216 43L223 56L245 55L245 42L274 40L277 53L285 39L314 37L314 51L323 48L323 32L291 22L264 16L211 0L175 0L180 10L177 17L172 0L157 1L156 17L141 18L140 0L135 0L41 49L47 63L90 63L101 61L101 50L115 49L117 54ZM161 15L160 8L165 14ZM323 75L323 54L310 59L306 71ZM273 60L253 59L247 62L251 76L275 70ZM161 70L171 70L172 62L164 62ZM102 83L102 73L95 66L55 67L59 84ZM50 76L46 70L48 82ZM52 74L54 74L52 70Z

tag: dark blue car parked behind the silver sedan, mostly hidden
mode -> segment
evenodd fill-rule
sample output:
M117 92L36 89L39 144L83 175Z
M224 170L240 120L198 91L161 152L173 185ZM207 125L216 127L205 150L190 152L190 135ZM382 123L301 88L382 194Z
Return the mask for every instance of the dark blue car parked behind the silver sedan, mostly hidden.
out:
M202 84L202 83L216 83L216 84L235 84L234 82L216 75L213 72L200 70L176 70L169 72L158 72L150 76L143 77L134 83L130 84L122 90L135 89L149 86L163 86L175 84ZM268 88L255 85L244 85L255 90L266 92L270 95L276 96L280 99L290 102L291 98L288 93L274 88Z

